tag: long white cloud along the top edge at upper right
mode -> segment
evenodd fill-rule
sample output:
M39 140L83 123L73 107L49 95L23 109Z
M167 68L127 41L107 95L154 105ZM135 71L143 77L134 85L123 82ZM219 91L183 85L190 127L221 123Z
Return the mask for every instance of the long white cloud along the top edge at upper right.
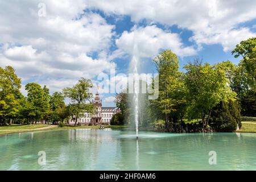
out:
M251 0L144 0L144 1L92 1L87 5L106 14L130 15L139 22L159 22L167 26L176 24L193 31L191 40L199 46L220 43L230 51L241 40L256 36L239 24L256 18L256 1Z

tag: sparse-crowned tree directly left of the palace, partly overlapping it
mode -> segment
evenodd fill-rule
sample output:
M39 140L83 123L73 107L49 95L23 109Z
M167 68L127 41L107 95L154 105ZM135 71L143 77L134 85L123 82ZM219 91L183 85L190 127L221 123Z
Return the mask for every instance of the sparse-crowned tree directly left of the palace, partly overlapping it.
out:
M64 96L71 100L70 107L76 117L75 126L80 114L85 113L85 111L90 112L93 110L93 105L88 104L89 99L92 98L92 93L89 91L92 87L93 84L90 80L81 78L72 88L67 87L63 89Z

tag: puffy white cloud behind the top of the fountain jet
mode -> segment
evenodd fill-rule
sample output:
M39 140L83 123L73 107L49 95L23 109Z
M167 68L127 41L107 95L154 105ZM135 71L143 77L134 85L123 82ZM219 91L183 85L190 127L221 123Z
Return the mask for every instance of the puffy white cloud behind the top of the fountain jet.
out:
M124 52L134 52L134 46L138 48L139 57L153 57L161 49L172 49L177 55L195 55L196 49L186 47L181 42L179 34L163 31L155 25L146 27L133 27L131 32L123 32L121 37L116 40L119 49Z

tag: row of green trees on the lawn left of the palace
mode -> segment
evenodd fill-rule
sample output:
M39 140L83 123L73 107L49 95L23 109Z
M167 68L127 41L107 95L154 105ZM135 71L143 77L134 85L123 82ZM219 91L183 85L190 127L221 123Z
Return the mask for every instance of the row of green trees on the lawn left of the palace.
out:
M92 86L90 80L81 78L72 88L50 95L46 86L32 82L26 84L27 97L24 97L20 93L21 79L15 74L14 68L0 67L0 126L14 122L57 124L73 115L76 125L81 113L93 111L93 105L88 102L92 97L89 92ZM65 105L65 98L71 101L69 105Z

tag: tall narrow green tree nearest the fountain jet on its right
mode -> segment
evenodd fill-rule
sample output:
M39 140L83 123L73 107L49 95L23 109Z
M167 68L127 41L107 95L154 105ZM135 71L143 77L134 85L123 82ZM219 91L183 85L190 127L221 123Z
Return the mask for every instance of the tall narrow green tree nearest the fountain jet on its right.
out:
M168 126L168 118L177 121L177 110L184 104L184 82L182 73L179 72L179 60L172 51L163 51L155 57L154 63L159 73L159 97L151 103L159 107L165 114L165 127ZM176 113L176 114L175 114ZM182 115L182 114L181 114Z

